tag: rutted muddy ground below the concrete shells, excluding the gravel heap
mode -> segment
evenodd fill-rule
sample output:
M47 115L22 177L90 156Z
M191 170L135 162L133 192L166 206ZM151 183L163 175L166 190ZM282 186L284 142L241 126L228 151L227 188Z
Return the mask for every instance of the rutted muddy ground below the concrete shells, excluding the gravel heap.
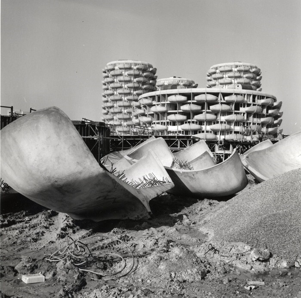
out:
M254 261L256 243L209 243L200 227L218 200L163 194L147 220L98 223L20 194L1 200L1 298L301 298L291 260ZM21 280L39 272L45 282Z

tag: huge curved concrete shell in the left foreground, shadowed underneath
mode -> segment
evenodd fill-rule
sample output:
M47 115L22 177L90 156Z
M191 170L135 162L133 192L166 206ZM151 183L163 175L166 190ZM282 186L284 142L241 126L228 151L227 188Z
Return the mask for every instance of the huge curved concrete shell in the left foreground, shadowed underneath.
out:
M164 188L137 190L102 169L72 121L57 107L1 130L1 177L13 189L73 218L145 218Z

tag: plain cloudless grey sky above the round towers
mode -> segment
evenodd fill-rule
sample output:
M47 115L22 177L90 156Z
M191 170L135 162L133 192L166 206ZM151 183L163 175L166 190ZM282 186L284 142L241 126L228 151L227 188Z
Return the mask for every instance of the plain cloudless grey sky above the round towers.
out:
M262 92L283 102L281 128L292 134L301 130L300 15L300 0L1 0L1 105L100 121L108 62L145 61L158 79L206 87L212 65L241 61L261 68Z

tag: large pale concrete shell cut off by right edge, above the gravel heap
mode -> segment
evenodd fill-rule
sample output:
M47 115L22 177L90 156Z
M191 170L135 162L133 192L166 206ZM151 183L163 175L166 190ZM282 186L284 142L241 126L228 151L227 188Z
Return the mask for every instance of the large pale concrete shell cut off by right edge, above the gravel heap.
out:
M262 150L245 155L247 170L259 181L301 168L301 131Z

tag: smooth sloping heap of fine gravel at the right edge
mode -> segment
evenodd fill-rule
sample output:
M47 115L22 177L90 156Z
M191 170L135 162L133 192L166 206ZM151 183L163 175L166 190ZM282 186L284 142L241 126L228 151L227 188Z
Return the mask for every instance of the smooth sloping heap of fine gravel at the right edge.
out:
M267 247L288 262L301 253L301 169L245 189L207 214L202 230L213 241Z

